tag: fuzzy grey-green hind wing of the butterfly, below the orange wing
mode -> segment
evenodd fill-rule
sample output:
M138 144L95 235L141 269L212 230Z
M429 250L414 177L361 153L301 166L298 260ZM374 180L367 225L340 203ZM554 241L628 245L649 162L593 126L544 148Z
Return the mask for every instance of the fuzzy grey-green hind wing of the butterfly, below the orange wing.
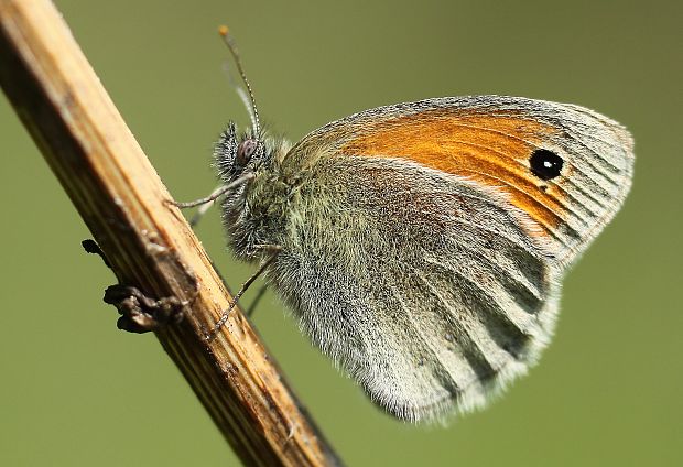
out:
M303 329L406 420L481 405L549 341L557 273L495 192L336 158L291 199L269 279Z

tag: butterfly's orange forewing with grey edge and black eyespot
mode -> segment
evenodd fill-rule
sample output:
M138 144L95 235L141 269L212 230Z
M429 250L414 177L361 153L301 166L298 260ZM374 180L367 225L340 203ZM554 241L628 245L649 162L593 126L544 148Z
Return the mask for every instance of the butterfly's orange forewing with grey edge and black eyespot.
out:
M534 171L540 152L560 158L557 176ZM399 158L492 187L527 213L529 234L564 267L619 209L633 167L632 140L619 123L578 106L506 96L367 110L314 131L291 152L311 153Z

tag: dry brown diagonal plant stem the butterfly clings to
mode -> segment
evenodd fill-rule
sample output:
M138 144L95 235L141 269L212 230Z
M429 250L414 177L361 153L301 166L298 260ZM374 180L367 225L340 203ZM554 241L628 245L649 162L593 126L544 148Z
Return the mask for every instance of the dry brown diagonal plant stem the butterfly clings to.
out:
M241 460L336 464L241 311L204 340L229 295L51 2L0 0L0 84L119 280L192 302L156 336Z

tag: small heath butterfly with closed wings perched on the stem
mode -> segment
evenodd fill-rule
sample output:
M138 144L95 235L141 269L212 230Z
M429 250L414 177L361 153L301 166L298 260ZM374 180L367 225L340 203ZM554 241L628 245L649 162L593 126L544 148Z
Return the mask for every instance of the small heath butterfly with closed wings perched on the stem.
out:
M579 106L468 96L365 110L290 144L262 131L245 83L253 128L230 123L215 150L228 242L313 344L412 422L524 374L564 274L629 191L628 131Z

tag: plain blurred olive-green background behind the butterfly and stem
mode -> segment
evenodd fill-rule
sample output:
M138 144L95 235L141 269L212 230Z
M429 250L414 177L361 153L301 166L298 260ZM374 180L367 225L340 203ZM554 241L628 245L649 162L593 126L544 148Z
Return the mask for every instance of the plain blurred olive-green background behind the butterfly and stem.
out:
M448 427L397 422L273 294L254 324L348 465L683 465L682 2L56 3L183 200L214 187L228 119L248 121L221 70L224 22L264 120L294 140L366 108L468 94L570 101L625 123L633 191L566 279L541 363L488 410ZM83 252L88 231L4 97L0 175L0 465L236 465L154 337L116 329L101 302L113 276ZM197 232L232 285L250 274L225 252L217 211Z

